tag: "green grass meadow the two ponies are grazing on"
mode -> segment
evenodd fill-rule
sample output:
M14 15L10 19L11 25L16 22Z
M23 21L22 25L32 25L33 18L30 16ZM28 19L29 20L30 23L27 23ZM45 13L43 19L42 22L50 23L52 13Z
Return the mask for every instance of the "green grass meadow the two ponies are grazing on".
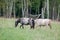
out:
M0 18L0 40L60 40L60 23L52 22L52 29L30 29L29 25L22 29L14 27L14 19Z

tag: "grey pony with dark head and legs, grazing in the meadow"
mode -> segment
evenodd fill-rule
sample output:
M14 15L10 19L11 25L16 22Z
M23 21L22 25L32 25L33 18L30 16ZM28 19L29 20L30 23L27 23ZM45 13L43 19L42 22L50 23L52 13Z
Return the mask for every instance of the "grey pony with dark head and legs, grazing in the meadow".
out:
M15 27L21 23L20 28L24 28L23 25L30 25L31 28L34 28L34 20L32 18L20 18L15 21Z

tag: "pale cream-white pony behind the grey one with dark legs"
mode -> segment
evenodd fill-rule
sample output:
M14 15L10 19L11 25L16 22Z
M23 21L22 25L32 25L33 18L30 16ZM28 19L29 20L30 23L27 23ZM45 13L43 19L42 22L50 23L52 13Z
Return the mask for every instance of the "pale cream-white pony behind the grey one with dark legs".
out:
M37 26L49 26L51 29L51 20L50 19L36 19L35 23Z

